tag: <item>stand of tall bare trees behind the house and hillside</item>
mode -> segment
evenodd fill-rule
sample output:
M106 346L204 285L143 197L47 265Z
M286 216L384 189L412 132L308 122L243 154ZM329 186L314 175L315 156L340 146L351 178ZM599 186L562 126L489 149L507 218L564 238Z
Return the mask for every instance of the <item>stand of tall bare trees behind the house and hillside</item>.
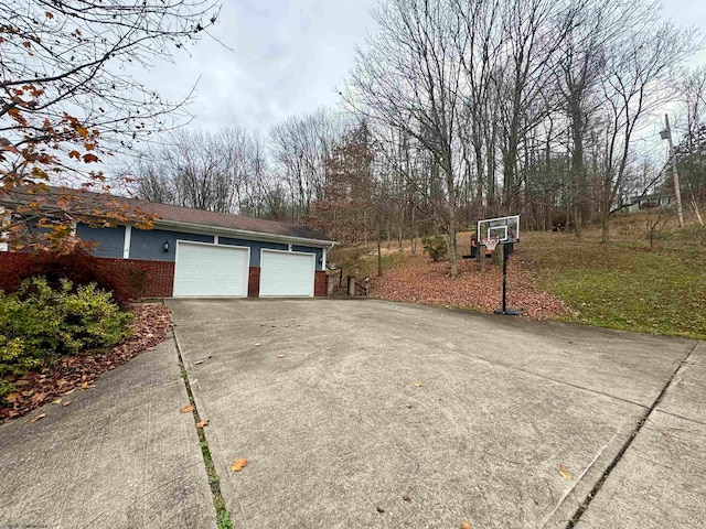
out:
M706 198L706 67L695 30L623 0L387 0L341 109L263 138L180 132L126 172L138 196L306 223L344 244L449 237L483 217L523 229L600 223L673 195L664 111L685 204Z

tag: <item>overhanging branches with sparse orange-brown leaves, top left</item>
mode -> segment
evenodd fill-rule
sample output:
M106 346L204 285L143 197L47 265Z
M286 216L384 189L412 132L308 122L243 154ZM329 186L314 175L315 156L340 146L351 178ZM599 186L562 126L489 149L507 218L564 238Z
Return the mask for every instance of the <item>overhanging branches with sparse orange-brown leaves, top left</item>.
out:
M0 185L36 195L58 184L108 191L98 162L183 116L185 101L136 82L132 65L170 58L216 15L215 2L200 0L2 2ZM39 203L28 207L47 216ZM71 236L61 228L71 220L52 223L56 238Z

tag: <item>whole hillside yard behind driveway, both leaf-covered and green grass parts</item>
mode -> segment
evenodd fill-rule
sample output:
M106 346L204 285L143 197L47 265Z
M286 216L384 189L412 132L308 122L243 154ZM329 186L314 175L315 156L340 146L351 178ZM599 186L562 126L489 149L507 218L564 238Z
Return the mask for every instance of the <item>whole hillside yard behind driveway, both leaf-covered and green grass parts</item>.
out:
M671 223L651 249L649 219L649 213L616 218L608 244L600 242L598 228L585 230L581 240L568 233L525 231L511 257L511 302L530 317L706 339L706 229L693 219L682 229ZM469 238L459 234L460 253L468 251ZM498 303L498 270L479 272L474 261L466 261L449 281L448 261L420 257L421 244L416 257L409 241L402 250L396 242L385 245L383 278L375 278L373 246L338 251L344 273L370 274L373 295L383 299L485 312ZM568 310L557 310L546 295Z

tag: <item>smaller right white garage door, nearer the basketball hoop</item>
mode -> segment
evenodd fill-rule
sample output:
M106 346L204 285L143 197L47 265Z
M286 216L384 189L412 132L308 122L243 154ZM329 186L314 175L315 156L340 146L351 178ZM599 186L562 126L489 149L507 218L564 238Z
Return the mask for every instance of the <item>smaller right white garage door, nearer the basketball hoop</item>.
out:
M260 296L312 296L315 256L263 250Z

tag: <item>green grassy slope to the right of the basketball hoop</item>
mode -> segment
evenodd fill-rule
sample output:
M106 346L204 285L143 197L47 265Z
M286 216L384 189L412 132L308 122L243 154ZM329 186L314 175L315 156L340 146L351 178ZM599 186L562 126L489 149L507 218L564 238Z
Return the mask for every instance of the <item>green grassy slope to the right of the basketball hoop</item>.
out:
M561 320L706 339L706 230L670 226L651 250L645 218L616 220L609 244L596 230L580 241L526 234L520 255L538 284L573 310Z

